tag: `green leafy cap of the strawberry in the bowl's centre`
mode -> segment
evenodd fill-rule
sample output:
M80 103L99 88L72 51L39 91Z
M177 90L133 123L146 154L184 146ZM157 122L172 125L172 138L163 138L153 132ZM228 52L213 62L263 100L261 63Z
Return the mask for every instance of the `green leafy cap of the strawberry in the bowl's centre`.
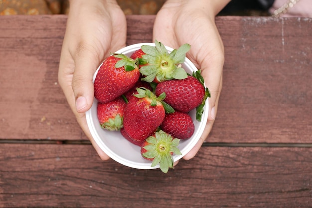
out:
M166 93L161 93L158 97L149 89L144 87L137 88L137 94L133 94L137 98L147 98L150 101L151 106L156 106L161 104L166 111L166 113L173 113L175 110L169 104L164 102L163 100L166 98Z

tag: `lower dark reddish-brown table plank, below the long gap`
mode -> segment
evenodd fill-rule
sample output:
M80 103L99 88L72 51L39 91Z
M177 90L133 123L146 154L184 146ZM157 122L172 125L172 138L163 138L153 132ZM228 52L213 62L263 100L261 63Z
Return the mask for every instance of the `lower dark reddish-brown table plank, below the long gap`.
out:
M91 145L0 145L0 207L311 205L311 148L205 147L163 174L101 161Z

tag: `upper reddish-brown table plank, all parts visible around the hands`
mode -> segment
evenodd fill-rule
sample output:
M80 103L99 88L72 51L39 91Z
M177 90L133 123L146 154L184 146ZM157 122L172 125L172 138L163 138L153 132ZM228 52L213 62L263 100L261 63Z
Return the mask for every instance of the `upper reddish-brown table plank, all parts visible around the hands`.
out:
M0 139L87 140L57 83L66 18L0 17ZM150 42L154 18L128 16L127 44ZM208 141L311 143L311 21L216 18L225 65Z

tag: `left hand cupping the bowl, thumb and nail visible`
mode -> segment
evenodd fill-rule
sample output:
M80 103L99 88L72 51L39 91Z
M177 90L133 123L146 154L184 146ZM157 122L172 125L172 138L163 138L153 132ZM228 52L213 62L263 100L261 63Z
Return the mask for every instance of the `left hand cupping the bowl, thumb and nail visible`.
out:
M93 74L110 53L126 46L126 17L115 0L71 0L58 81L76 119L102 160L87 126L93 103Z

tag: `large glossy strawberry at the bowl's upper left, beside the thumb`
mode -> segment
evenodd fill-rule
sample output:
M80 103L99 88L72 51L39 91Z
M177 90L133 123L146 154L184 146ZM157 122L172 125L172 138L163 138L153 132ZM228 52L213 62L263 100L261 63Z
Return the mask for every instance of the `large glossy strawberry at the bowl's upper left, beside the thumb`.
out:
M123 54L104 60L94 81L94 97L101 103L114 100L132 88L139 80L136 61Z

